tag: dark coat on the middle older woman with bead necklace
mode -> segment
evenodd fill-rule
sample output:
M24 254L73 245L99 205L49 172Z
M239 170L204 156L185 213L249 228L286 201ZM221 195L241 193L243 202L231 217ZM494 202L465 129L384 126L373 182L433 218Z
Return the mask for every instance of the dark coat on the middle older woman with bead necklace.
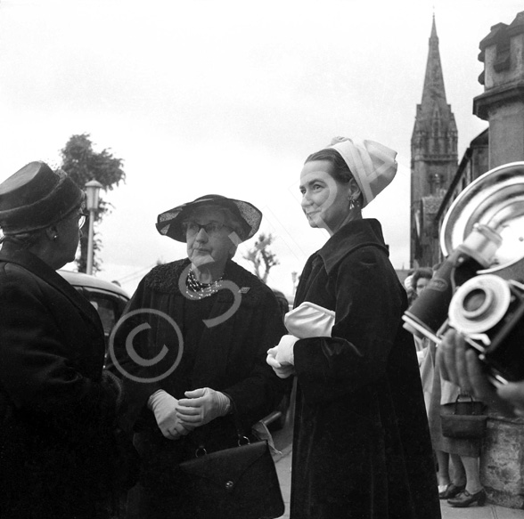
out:
M201 302L188 303L178 285L189 265L187 259L160 265L141 281L124 314L128 319L119 327L114 341L115 369L132 375L123 380L127 391L134 395L127 426L135 427L135 444L143 457L137 497L141 517L191 517L194 504L184 496L178 463L192 458L199 444L208 451L235 446L236 427L242 434L248 433L250 426L275 409L287 386L266 364L267 350L285 334L282 314L271 289L229 261L224 279L233 281L240 306L216 326L202 325L199 337L186 337L184 322L192 319L184 314L188 304L209 305L205 319L211 319L230 311L234 299L231 289L222 289ZM135 363L126 350L127 338L144 323L151 328L133 337L135 353L151 359L161 353L163 346L168 351L161 361L149 367ZM226 393L233 403L233 414L197 427L179 440L166 439L147 409L149 396L164 389L180 399L184 398L184 391L201 387ZM150 502L153 507L147 504Z

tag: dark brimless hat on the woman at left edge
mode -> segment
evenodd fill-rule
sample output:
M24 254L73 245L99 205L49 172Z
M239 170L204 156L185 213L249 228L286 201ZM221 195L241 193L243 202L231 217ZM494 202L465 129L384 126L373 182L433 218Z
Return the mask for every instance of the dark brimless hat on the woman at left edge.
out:
M45 229L83 199L84 191L63 171L29 162L0 184L0 227L6 235Z

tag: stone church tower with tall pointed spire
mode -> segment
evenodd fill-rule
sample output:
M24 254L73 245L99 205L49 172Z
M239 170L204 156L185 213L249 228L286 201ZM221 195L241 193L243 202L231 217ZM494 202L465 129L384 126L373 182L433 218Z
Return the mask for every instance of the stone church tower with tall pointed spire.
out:
M456 168L457 130L451 105L446 102L433 15L422 102L417 105L411 138L410 264L413 267L438 262L438 250L434 250L438 228L434 217Z

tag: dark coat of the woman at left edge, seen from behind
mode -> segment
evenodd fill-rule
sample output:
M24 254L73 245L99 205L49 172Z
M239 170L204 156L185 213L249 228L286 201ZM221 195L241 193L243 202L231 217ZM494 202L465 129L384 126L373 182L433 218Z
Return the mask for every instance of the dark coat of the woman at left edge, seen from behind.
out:
M4 244L0 316L0 516L108 516L118 393L102 377L97 312L36 255Z

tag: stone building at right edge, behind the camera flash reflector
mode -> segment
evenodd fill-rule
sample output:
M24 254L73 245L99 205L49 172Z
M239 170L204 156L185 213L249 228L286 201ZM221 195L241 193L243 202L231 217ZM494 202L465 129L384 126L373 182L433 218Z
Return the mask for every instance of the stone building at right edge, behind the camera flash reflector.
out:
M473 100L473 113L489 127L465 151L442 198L433 220L433 250L438 249L442 219L467 185L496 166L524 161L524 12L510 25L494 25L479 48L479 61L484 63L479 82L484 93ZM524 274L524 259L517 270ZM492 412L488 417L480 457L487 497L504 507L524 508L524 418Z

